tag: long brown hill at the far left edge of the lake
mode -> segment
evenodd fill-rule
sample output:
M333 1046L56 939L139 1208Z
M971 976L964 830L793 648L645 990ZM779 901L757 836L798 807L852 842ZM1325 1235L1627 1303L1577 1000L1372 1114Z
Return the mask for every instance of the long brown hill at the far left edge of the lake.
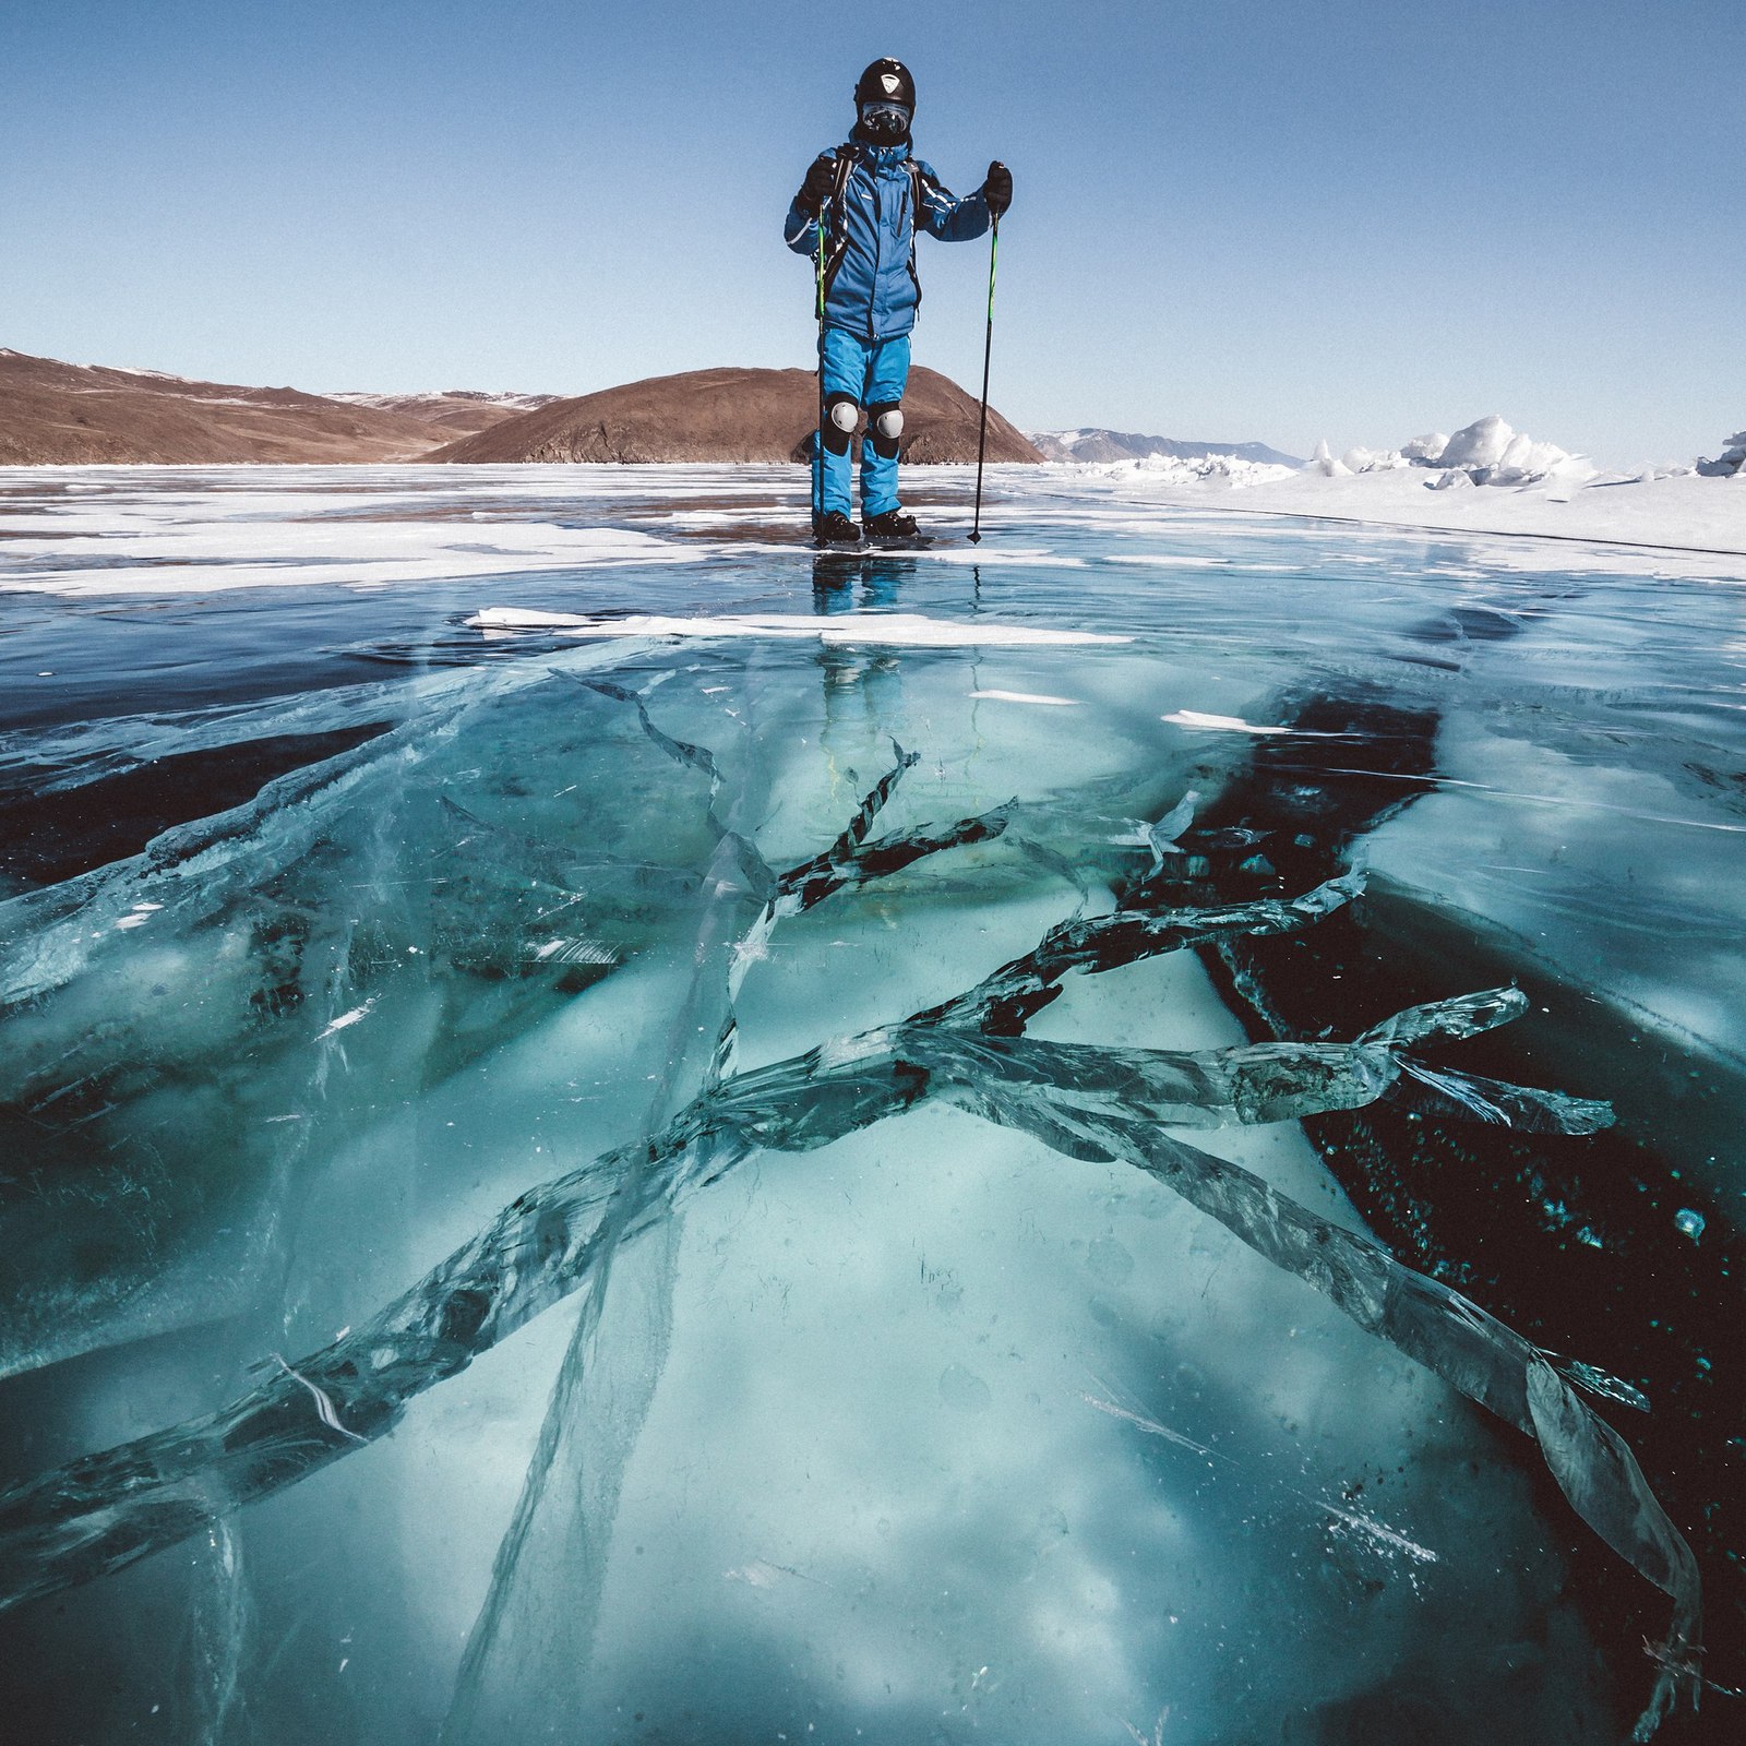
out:
M410 461L450 433L295 388L194 382L0 349L0 464Z

